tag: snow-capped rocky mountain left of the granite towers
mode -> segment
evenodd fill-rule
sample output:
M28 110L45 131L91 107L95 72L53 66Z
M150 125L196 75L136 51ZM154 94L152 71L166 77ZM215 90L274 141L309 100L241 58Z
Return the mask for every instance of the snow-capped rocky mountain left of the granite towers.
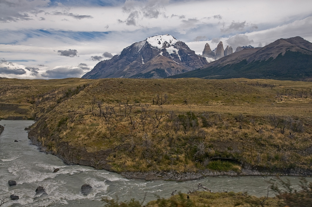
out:
M184 42L168 34L157 35L126 47L110 60L99 62L82 78L165 78L207 63Z

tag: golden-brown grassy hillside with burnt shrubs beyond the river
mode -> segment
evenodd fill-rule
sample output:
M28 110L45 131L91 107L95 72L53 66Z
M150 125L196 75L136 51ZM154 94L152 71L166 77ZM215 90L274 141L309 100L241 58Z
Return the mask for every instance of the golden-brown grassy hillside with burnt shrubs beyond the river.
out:
M310 175L311 86L264 79L7 79L2 104L27 111L1 108L0 118L37 117L29 138L43 150L127 177L298 169Z

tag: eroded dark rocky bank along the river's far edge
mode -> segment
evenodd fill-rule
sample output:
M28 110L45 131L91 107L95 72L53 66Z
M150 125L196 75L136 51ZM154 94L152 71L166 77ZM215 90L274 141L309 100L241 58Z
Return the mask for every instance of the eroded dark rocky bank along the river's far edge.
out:
M33 145L38 146L42 152L50 153L61 158L61 160L67 165L84 165L91 166L97 169L105 169L111 172L117 172L127 179L143 179L146 181L153 180L167 180L167 181L192 181L198 180L207 176L312 176L311 170L305 169L266 169L258 166L248 166L241 164L241 170L236 171L213 171L209 169L197 170L190 172L178 172L178 171L115 171L110 164L107 157L112 153L112 150L99 151L96 153L87 152L85 148L71 147L68 143L60 143L60 147L57 153L47 150L38 141L38 134L30 131L28 138Z

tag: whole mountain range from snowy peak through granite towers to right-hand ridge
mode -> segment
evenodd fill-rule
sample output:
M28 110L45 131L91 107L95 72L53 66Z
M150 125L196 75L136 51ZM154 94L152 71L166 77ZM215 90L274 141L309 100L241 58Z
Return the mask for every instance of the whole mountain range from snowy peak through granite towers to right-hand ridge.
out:
M312 43L302 37L276 40L264 47L231 46L220 41L213 51L207 43L196 55L171 35L148 37L120 55L100 61L82 78L258 78L308 80L312 77Z

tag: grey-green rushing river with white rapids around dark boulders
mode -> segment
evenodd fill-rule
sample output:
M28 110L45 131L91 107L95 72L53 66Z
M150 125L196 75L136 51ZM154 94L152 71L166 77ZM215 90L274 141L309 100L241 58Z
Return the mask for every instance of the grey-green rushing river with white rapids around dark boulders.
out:
M266 195L270 176L215 176L196 181L145 181L125 179L117 173L96 170L89 166L65 165L58 157L40 152L31 145L25 127L34 122L29 120L1 120L4 131L0 135L0 198L18 195L19 200L2 206L104 206L102 198L118 198L120 201L135 198L144 203L156 200L156 196L168 198L174 190L182 193L197 189L197 184L210 188L214 192L247 191L251 195ZM17 140L18 142L14 142ZM53 173L55 168L60 170ZM274 178L274 177L273 177ZM299 177L287 176L294 184ZM16 181L9 186L8 181ZM312 178L307 178L312 182ZM92 191L84 196L81 185L89 184ZM36 188L44 187L48 195L36 197ZM10 200L8 198L7 200Z

